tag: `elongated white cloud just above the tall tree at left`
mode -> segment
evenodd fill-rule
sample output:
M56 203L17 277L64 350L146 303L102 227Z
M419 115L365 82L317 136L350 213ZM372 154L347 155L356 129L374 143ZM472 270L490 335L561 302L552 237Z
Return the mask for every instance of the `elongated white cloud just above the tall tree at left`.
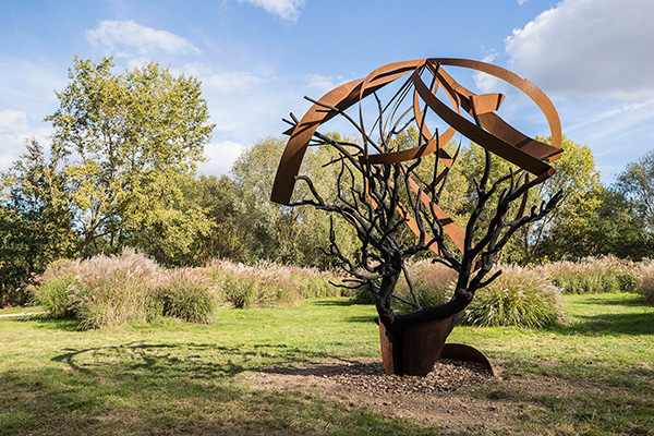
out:
M169 53L199 53L197 47L181 36L133 21L101 21L96 28L86 31L86 39L93 45L111 49L135 48L140 55L147 55L155 49Z

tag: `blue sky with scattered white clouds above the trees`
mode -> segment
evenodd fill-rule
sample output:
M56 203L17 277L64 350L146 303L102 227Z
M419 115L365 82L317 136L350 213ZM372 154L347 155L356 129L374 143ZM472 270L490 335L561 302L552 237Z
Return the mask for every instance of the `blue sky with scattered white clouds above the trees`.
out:
M401 60L457 57L508 68L554 101L604 183L654 148L652 0L0 1L0 171L23 140L47 143L73 57L116 71L157 61L203 82L214 138L199 171L229 171L244 147L346 81ZM502 92L487 77L477 92ZM508 92L502 117L529 135L544 117Z

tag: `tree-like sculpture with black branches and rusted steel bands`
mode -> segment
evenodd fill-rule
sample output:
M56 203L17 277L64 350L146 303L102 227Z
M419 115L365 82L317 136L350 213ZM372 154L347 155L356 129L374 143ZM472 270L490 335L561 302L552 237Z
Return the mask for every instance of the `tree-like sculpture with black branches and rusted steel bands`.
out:
M501 94L476 95L457 83L444 66L483 72L522 90L545 114L552 144L522 134L496 114L504 101ZM396 85L396 92L383 102L379 95L391 84ZM439 94L446 96L449 105ZM366 130L364 119L370 111L364 101L371 100L370 96L374 97L376 116ZM347 258L335 238L329 254L350 274L354 286L368 286L375 296L386 372L425 375L441 352L450 358L484 361L476 350L445 346L445 340L474 292L499 274L496 271L485 279L494 255L519 228L543 218L560 199L559 193L525 214L528 191L555 173L549 161L562 152L560 122L549 99L531 82L502 68L468 59L432 58L382 66L367 77L346 83L319 100L310 101L314 105L301 120L291 114L292 121L287 121L292 125L284 132L290 140L277 170L271 201L291 206L311 205L336 214L356 230L362 244L360 258ZM358 113L350 114L348 109L355 105ZM355 126L360 144L336 141L317 132L337 116ZM429 125L435 120L447 124L445 132L438 134L432 130ZM393 140L410 125L419 132L417 144L398 148ZM486 159L476 184L475 209L464 229L440 207L449 169L458 155L457 152L450 156L445 146L457 132L481 145ZM326 202L312 180L299 174L310 145L328 145L338 152L339 158L330 162L341 166L335 201ZM494 156L509 161L514 169L491 181ZM420 174L417 171L425 162L432 167L429 180L425 180L424 171ZM298 181L307 184L311 197L293 198ZM488 209L488 201L496 192L501 195L493 218L480 230L479 218ZM517 216L507 219L513 204L519 205ZM399 240L404 227L416 237L410 243ZM450 251L452 244L459 253ZM440 306L423 307L407 277L405 259L426 250L434 252L436 262L458 272L453 296ZM393 293L401 275L409 282L413 301ZM391 310L393 299L411 304L414 312L396 313Z

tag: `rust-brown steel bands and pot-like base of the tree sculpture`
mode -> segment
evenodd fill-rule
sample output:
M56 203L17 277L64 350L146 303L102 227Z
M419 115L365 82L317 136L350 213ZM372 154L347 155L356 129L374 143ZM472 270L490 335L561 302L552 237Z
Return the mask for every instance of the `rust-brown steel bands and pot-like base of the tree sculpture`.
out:
M550 131L550 144L542 143L519 132L496 113L505 101L504 95L496 93L477 95L458 83L452 75L445 71L446 68L481 72L524 93L545 116ZM401 84L399 90L384 106L379 95L383 93L383 88L396 81ZM362 102L368 96L374 96L380 113L379 118L368 128L375 129L377 125L379 131L386 129L386 126L382 126L384 113L390 112L389 119L393 119L398 111L399 104L393 106L392 101L407 99L408 109L404 114L408 114L410 120L407 125L411 123L416 128L420 137L419 145L408 149L380 148L376 145L372 136L368 136L368 131L364 125ZM444 96L446 98L441 98ZM367 168L377 165L402 165L402 162L408 162L407 166L409 166L412 160L435 154L438 164L449 169L456 157L446 152L445 145L459 133L491 154L531 173L533 181L530 186L533 186L555 173L550 161L559 158L562 153L560 121L547 96L528 80L486 62L469 59L429 58L390 63L376 69L366 77L340 85L318 100L311 101L313 106L302 119L298 120L293 117L292 128L284 132L290 138L281 156L270 197L272 202L282 205L292 203L293 189L295 181L299 180L302 159L314 134L318 135L317 129L336 116L346 114L346 110L355 105L359 105L359 113L353 111L346 117L358 125L363 142L363 147L360 148L361 153L355 156L354 161L358 159ZM400 116L399 120L402 118L403 116ZM437 129L432 131L427 126L427 118L429 118L429 122L438 120L447 128L443 129L440 133ZM391 128L390 131L392 133L395 128ZM409 177L407 168L400 167L408 186L420 198L420 202L434 214L443 230L463 253L467 232L438 207L437 202L432 199L431 195L434 193L419 187L419 184ZM446 172L444 171L444 173ZM386 183L392 185L390 180L387 180ZM523 197L518 218L524 213L528 201L526 191L521 195ZM376 207L375 202L370 199ZM409 209L401 205L398 208L400 208L408 227L420 237L419 223L409 214ZM470 241L468 241L468 245L470 245ZM432 245L431 250L438 253L436 244ZM476 268L479 268L479 262L474 266L474 269ZM426 375L439 356L481 362L494 372L488 360L474 348L463 344L445 344L452 327L451 317L448 317L410 326L395 337L387 326L379 323L382 354L386 372L388 374Z

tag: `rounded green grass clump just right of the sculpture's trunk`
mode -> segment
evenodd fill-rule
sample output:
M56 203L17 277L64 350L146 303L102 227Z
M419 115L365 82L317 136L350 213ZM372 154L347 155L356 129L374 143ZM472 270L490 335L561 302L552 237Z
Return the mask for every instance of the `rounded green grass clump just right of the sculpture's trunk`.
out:
M545 327L564 319L556 286L537 271L507 266L501 276L476 292L459 322L484 327Z

